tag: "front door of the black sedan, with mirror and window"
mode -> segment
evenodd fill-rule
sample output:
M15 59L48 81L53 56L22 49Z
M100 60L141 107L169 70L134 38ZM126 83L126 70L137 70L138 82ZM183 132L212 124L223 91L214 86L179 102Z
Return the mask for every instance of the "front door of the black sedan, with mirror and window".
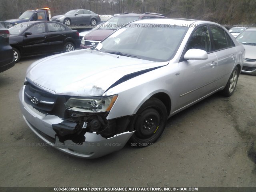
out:
M30 26L26 32L31 32L31 35L24 36L23 33L23 53L29 54L40 54L47 52L48 42L47 42L47 32L44 22L36 23Z

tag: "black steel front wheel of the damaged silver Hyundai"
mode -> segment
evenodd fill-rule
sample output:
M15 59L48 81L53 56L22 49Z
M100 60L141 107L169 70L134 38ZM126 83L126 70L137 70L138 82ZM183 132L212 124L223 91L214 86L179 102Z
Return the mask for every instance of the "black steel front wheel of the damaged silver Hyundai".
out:
M147 100L134 116L130 131L134 134L130 138L132 146L148 146L162 135L167 120L167 110L157 98Z

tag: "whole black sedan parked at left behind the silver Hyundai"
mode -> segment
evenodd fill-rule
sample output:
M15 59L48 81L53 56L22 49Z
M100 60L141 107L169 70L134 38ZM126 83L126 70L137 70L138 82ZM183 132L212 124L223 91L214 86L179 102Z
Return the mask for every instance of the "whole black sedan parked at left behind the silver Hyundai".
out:
M78 31L59 22L30 21L9 31L16 62L22 56L73 51L81 44Z

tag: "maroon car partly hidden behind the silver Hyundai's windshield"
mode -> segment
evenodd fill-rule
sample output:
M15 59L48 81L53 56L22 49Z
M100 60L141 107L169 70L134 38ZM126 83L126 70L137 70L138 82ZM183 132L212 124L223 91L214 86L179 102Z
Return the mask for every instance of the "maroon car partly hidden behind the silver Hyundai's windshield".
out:
M118 28L124 26L127 23L130 23L138 19L148 19L148 18L166 18L162 14L156 13L144 13L144 14L135 14L135 13L124 13L114 15L107 22L102 24L98 30L94 30L84 36L81 42L80 48L91 48L96 46L100 41L110 35L112 32Z

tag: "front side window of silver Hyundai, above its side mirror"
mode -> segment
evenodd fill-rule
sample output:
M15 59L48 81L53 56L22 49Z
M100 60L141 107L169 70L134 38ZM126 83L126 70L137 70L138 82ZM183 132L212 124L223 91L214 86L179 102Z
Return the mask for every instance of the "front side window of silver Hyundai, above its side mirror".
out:
M210 52L210 36L206 25L198 27L190 37L186 50L202 49Z

